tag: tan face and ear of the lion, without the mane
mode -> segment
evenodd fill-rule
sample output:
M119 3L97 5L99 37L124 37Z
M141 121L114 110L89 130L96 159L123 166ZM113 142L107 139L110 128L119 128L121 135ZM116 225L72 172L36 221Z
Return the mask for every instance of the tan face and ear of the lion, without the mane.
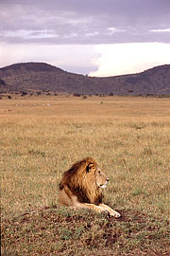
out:
M89 166L89 173L93 173L95 176L95 183L97 188L105 189L107 183L109 182L109 178L107 175L96 165L90 163Z

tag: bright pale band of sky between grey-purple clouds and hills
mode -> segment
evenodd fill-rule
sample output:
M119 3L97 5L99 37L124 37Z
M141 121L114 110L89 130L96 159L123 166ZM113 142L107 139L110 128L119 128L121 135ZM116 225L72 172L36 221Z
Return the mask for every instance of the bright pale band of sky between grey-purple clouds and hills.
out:
M1 67L8 64L42 62L66 71L95 77L142 72L170 64L170 44L129 43L105 45L4 44Z

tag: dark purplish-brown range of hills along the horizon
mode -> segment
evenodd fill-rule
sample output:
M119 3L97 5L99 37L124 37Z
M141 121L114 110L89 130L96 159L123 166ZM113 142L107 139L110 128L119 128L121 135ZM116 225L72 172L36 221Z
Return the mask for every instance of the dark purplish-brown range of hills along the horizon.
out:
M43 63L0 68L0 90L54 91L71 94L170 95L170 64L124 76L94 78Z

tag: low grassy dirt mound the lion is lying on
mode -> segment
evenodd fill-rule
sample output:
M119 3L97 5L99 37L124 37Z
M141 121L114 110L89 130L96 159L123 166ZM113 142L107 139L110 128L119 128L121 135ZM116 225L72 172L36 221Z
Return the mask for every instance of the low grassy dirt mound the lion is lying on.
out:
M114 219L44 207L2 221L2 255L170 255L169 222L138 210Z

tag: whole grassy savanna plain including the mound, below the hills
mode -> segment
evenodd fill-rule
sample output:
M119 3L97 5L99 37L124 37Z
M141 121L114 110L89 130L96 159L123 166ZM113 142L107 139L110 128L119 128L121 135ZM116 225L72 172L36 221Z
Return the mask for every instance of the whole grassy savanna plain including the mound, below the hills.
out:
M93 156L122 217L59 206L61 174ZM1 253L170 255L170 100L0 101Z

